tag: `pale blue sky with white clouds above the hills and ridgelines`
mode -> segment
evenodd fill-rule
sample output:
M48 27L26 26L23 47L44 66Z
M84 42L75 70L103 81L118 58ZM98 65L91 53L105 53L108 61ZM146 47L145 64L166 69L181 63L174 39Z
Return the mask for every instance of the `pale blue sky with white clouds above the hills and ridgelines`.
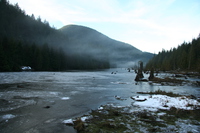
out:
M93 28L136 48L158 53L200 33L200 0L9 0L57 29Z

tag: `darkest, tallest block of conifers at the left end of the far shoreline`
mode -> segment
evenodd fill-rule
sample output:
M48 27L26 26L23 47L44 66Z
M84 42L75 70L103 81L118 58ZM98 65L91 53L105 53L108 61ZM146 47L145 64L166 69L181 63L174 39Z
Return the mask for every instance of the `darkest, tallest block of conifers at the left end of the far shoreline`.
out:
M0 39L0 71L20 71L21 66L40 71L65 70L66 56L62 50L49 48L48 44L38 46L6 37Z

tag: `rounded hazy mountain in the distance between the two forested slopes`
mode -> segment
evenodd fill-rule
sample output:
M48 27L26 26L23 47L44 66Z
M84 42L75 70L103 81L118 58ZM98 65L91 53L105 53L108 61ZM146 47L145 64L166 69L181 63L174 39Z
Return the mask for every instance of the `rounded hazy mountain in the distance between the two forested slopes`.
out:
M109 60L112 67L131 67L140 60L147 62L153 57L151 53L142 52L130 44L111 39L88 27L67 25L59 31L69 39L67 52L74 56L88 55L97 60Z

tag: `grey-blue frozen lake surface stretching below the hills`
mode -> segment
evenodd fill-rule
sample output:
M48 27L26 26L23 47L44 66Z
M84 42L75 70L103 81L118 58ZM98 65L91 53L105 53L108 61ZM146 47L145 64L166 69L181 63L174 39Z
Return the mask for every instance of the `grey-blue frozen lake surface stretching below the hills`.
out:
M198 87L136 83L135 76L124 68L0 73L0 132L69 132L63 120L87 114L107 103L130 104L130 97L142 91L160 89L200 97ZM116 95L127 100L116 100Z

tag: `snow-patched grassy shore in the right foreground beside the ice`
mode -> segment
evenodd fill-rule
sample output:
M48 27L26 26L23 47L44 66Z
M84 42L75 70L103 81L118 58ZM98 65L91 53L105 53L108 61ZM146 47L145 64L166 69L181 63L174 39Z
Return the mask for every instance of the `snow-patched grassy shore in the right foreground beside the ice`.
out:
M165 93L165 95L162 95ZM106 104L63 123L77 132L192 132L200 131L200 101L164 91L130 97L127 106ZM116 97L116 96L115 96ZM117 96L116 100L126 100Z

